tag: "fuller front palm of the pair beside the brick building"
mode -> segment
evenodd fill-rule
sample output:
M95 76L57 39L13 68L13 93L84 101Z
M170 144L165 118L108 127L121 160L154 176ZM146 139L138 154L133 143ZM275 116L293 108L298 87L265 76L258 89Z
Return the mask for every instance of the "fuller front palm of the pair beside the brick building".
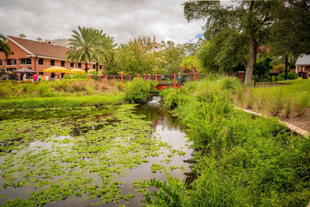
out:
M85 62L85 70L87 72L87 63L94 59L101 60L105 51L100 47L102 39L97 35L96 29L86 28L85 26L78 26L78 29L79 32L73 30L72 38L69 38L70 45L77 49L66 52L66 60Z

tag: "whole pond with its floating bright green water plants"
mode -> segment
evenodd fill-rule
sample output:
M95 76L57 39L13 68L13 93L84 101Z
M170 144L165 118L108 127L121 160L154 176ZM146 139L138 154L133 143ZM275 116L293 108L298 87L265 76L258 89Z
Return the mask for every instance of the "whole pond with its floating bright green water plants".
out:
M151 178L186 179L180 120L144 105L2 110L0 205L142 206Z

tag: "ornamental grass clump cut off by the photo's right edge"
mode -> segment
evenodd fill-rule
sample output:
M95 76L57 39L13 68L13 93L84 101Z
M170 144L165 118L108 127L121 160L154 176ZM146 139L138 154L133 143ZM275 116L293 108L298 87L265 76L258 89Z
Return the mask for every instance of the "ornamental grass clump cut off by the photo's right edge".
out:
M299 88L295 91L293 98L294 107L298 115L303 117L308 107L310 107L310 89Z

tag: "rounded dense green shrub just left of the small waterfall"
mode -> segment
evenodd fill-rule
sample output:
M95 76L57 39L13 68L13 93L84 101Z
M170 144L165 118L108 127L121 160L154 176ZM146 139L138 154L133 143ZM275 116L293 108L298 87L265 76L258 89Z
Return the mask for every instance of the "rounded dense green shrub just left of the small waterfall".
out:
M125 85L125 98L131 103L145 103L150 99L150 84L142 78L135 77Z

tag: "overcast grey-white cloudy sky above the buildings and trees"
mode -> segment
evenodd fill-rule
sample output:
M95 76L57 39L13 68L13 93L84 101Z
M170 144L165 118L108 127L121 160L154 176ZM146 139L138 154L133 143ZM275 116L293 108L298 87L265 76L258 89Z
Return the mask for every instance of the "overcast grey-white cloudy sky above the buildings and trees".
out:
M115 43L138 35L156 42L196 42L203 21L184 19L185 1L171 0L0 0L0 33L26 39L70 38L78 25L102 29Z

